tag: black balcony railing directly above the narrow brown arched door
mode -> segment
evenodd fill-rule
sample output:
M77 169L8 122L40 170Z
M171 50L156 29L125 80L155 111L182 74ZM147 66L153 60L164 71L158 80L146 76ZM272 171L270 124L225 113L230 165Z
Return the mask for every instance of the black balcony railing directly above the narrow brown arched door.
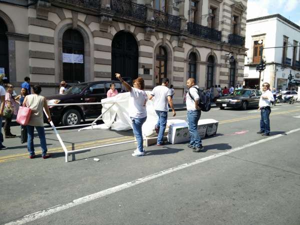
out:
M153 10L154 23L162 28L173 29L176 31L180 30L180 17L170 15L163 11Z

